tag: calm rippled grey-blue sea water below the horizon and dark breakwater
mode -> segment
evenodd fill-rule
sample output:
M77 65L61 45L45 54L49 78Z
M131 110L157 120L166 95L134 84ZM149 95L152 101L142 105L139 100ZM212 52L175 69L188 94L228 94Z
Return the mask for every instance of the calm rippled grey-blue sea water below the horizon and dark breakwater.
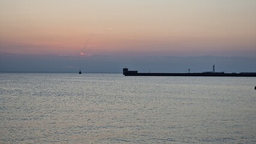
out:
M0 73L0 143L256 143L255 77Z

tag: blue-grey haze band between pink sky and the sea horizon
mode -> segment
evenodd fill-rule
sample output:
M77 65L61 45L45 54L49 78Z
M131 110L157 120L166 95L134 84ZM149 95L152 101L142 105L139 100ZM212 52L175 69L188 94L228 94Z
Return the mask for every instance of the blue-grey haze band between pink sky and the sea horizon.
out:
M116 60L118 59L118 61ZM122 73L130 70L151 73L225 73L256 72L256 58L227 56L55 56L15 55L0 56L0 72L53 72L53 73Z

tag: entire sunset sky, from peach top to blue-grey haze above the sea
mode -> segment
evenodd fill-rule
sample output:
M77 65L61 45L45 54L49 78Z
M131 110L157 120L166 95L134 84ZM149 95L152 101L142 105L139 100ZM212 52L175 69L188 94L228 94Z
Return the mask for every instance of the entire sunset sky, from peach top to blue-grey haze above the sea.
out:
M0 71L256 71L255 0L0 0Z

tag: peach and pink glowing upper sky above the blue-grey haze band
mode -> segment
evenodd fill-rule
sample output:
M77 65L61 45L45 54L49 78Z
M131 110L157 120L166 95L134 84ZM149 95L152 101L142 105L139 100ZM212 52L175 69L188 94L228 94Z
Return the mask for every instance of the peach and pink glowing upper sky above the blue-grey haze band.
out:
M0 53L256 56L255 7L256 1L3 0Z

